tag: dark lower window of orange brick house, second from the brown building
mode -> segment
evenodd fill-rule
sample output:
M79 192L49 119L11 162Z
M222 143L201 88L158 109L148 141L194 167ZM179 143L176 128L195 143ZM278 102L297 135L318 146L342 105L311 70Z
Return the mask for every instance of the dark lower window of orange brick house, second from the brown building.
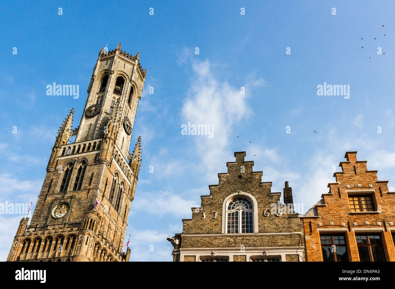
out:
M359 261L380 262L386 261L380 234L357 234Z

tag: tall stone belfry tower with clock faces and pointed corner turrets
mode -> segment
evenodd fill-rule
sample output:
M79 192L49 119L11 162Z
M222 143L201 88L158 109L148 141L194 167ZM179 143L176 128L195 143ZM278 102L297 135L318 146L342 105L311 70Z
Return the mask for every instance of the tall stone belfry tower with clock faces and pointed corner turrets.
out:
M122 253L141 165L129 152L147 71L139 53L99 53L79 127L58 131L32 220L23 218L7 261L128 261ZM69 140L75 137L75 142Z

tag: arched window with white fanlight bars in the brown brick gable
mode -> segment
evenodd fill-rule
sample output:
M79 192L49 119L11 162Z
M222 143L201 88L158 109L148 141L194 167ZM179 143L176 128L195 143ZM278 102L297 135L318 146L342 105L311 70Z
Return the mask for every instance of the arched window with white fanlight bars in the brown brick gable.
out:
M227 233L254 233L254 208L248 199L233 199L226 209Z

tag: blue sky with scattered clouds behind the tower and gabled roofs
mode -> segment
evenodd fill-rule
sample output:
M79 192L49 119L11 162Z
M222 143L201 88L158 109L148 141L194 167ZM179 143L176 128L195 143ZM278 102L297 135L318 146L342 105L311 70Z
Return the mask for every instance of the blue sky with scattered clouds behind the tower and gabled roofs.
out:
M56 131L72 107L78 126L98 53L119 42L128 53L139 51L147 69L130 147L141 135L143 163L126 233L131 261L172 260L166 237L181 233L181 219L200 206L235 151L246 151L272 191L289 181L305 211L335 181L332 166L340 170L347 150L357 150L394 191L394 8L393 1L3 6L0 203L33 202L34 209ZM47 96L53 82L79 84L79 99ZM350 85L350 98L317 96L324 82ZM214 137L181 135L188 122L213 124ZM1 260L22 217L0 215Z

